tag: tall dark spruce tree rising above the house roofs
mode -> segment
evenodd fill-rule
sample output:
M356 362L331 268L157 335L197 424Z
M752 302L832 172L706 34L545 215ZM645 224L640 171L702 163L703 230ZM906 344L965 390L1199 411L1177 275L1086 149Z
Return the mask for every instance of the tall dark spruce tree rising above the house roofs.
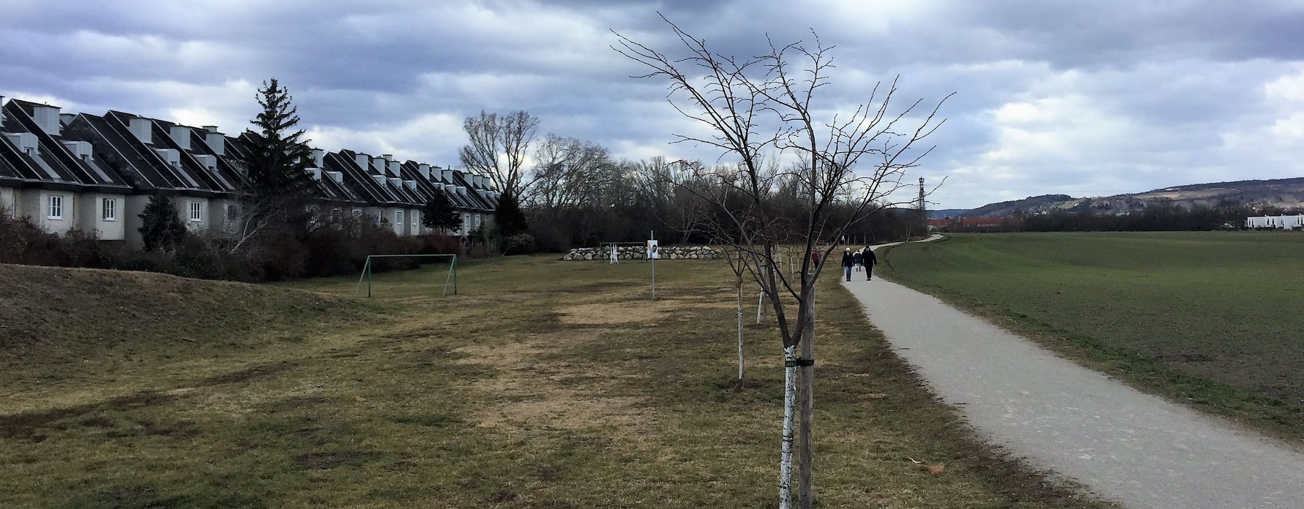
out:
M299 109L292 104L289 91L276 78L258 89L262 112L246 129L249 141L249 194L262 202L263 208L303 207L309 191L316 186L305 169L313 165L308 139L299 125Z

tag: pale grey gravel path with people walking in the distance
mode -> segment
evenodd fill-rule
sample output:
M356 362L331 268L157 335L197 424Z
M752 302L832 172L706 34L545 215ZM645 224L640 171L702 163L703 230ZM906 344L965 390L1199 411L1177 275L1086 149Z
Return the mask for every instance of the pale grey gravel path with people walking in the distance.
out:
M994 444L1033 466L1127 508L1304 508L1304 454L859 275L842 284L896 353Z

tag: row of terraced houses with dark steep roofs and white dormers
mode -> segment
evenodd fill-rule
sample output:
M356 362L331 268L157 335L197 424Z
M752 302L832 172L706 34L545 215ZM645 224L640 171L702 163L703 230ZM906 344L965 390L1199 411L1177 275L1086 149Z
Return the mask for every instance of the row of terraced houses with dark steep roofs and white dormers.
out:
M241 219L248 139L119 111L64 113L0 98L0 208L52 233L94 232L140 246L150 195L168 197L192 232L231 232ZM369 216L400 236L432 233L421 208L437 194L468 236L488 224L499 193L488 177L349 150L312 151L319 211Z

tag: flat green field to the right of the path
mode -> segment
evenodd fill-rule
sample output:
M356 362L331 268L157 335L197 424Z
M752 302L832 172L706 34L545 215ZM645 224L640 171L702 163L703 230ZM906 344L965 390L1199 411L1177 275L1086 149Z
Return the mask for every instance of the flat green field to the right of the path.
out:
M891 249L882 272L1138 387L1304 432L1304 234L955 234Z

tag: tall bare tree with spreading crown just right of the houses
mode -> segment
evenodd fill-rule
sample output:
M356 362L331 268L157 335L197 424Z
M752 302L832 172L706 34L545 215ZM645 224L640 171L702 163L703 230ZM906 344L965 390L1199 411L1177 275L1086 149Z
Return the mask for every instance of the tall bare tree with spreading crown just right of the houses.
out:
M502 194L519 198L528 186L523 182L526 156L539 118L526 111L503 116L481 111L479 117L467 117L462 128L471 139L459 152L462 164L488 174Z

